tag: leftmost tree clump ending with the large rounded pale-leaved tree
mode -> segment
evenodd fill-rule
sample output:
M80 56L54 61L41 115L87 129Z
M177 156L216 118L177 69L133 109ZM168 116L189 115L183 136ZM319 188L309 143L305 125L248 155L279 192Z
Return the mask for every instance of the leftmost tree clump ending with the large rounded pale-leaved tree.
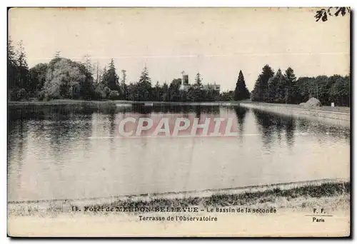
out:
M84 63L56 55L29 68L24 46L8 44L8 96L11 101L38 98L84 98L94 95L93 76Z

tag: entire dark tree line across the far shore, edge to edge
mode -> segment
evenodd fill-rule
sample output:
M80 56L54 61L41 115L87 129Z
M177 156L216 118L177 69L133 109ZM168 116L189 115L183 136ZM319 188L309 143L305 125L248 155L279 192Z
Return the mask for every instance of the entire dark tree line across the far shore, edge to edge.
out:
M316 97L323 105L331 102L338 106L350 105L349 76L317 76L296 78L292 68L284 73L266 65L258 75L253 91L246 88L243 72L238 74L234 91L203 89L201 73L195 82L181 89L181 78L171 83L153 86L149 70L144 67L139 80L127 83L126 71L121 77L116 71L114 60L100 71L93 66L88 56L84 62L71 61L57 52L49 63L39 63L29 68L24 46L20 42L15 50L11 40L8 44L8 92L9 100L19 101L31 98L41 101L50 99L86 100L129 100L129 101L252 101L268 103L302 103Z

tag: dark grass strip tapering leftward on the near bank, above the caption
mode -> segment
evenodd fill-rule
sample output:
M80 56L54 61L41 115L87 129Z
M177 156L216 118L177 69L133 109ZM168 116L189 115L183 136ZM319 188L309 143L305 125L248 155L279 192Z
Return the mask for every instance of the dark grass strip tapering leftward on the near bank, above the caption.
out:
M188 206L203 207L228 207L238 205L275 205L284 201L291 203L298 198L310 198L318 201L319 198L336 197L350 193L350 183L322 183L320 185L305 185L291 189L273 188L263 191L237 193L237 194L214 194L207 197L185 197L185 198L154 198L152 200L117 200L114 203L104 204L109 207L122 208L182 208ZM270 204L269 204L270 203ZM92 205L99 207L99 205ZM298 205L291 205L299 207ZM301 207L306 206L301 202ZM278 206L278 207L281 207Z

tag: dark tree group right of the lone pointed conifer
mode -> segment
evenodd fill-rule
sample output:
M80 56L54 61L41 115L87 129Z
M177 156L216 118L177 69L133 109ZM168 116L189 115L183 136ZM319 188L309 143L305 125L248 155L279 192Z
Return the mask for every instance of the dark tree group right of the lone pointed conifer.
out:
M323 105L350 106L350 76L316 76L296 78L292 68L276 73L266 65L256 80L252 101L267 103L303 103L318 98Z

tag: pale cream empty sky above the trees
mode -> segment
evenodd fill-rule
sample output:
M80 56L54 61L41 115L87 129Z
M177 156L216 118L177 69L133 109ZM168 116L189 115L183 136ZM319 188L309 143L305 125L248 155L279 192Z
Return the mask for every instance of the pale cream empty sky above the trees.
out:
M242 70L249 91L265 64L296 76L347 75L350 16L316 22L316 9L11 9L9 36L23 41L29 67L61 56L103 67L113 58L129 82L149 68L153 85L180 78L233 89Z

